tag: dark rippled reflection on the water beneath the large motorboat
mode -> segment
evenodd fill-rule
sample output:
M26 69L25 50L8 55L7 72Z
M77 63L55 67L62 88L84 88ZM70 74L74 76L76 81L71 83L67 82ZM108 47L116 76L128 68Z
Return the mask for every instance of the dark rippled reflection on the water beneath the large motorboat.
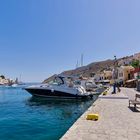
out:
M95 100L97 96L94 96ZM26 105L32 109L41 109L42 111L58 111L59 115L55 116L55 119L68 119L80 116L87 107L93 103L93 100L76 100L76 99L46 99L40 97L31 97ZM61 112L61 113L60 113ZM53 117L53 116L52 116Z

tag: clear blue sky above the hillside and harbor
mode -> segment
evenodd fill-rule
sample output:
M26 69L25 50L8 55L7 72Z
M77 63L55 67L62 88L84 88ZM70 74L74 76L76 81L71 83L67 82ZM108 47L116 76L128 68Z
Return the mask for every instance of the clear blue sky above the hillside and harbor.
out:
M1 0L0 74L23 81L140 52L139 0Z

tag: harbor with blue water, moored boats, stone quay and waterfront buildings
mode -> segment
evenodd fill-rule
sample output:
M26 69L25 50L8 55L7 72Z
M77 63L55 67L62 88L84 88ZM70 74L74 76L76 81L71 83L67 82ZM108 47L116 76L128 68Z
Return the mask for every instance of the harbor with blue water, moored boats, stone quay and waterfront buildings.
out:
M41 83L2 84L0 139L139 140L139 57L115 57L97 73L77 68L88 75L76 69Z

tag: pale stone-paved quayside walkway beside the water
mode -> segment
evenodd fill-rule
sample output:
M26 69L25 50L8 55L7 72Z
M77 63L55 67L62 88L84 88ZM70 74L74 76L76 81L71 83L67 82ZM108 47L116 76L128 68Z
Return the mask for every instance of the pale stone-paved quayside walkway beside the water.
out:
M128 98L133 99L136 93L134 89L122 88L121 93L107 95L113 98L99 98L61 139L140 140L140 112L128 108ZM100 119L87 121L88 113L99 113Z

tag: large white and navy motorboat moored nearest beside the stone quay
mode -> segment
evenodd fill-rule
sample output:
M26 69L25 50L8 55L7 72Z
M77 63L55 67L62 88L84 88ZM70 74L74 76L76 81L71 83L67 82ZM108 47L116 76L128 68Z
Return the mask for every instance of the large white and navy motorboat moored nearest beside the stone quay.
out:
M24 88L33 96L47 98L92 98L93 94L87 92L81 85L75 85L71 77L57 75L47 84L29 86Z

